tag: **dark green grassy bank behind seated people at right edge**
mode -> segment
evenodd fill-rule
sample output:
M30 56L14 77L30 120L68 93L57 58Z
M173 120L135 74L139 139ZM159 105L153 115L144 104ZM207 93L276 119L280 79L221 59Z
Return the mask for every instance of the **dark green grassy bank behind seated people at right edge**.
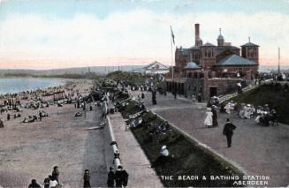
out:
M281 85L262 85L245 93L232 98L234 102L251 103L255 106L269 104L270 109L276 109L278 121L289 124L289 89Z

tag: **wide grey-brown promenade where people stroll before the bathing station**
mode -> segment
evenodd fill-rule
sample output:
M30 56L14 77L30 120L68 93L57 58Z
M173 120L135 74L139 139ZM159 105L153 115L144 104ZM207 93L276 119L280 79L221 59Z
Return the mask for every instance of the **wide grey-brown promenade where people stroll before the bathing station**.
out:
M141 92L132 91L135 97ZM289 126L262 127L254 119L241 119L236 113L217 114L217 128L205 128L206 104L191 102L185 98L175 100L171 94L156 95L157 105L152 105L151 93L145 93L143 100L148 109L178 126L194 139L223 155L232 163L245 169L249 176L269 176L269 186L289 184ZM178 95L179 96L179 95ZM226 147L223 127L226 118L237 126L232 137L232 147Z

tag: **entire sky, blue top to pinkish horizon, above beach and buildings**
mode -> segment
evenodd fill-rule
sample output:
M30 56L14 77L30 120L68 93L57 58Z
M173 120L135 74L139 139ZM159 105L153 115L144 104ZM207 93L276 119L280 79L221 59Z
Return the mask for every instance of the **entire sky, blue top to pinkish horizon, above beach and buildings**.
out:
M0 0L0 69L171 64L176 47L260 46L260 64L289 65L289 0Z

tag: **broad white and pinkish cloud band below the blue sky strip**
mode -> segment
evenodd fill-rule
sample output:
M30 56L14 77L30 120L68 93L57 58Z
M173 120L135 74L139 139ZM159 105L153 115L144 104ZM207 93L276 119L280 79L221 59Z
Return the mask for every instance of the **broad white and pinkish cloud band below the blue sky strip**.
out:
M9 14L0 20L0 68L9 66L5 62L11 62L13 67L16 64L38 69L103 63L148 64L154 60L171 64L170 25L177 45L190 47L194 45L197 22L201 24L204 42L217 43L219 27L225 41L236 46L246 43L250 36L252 42L261 46L262 63L267 64L277 60L278 46L281 53L289 50L288 17L273 12L176 15L145 9L118 11L104 19L89 14L77 14L70 19ZM282 53L282 59L289 56Z

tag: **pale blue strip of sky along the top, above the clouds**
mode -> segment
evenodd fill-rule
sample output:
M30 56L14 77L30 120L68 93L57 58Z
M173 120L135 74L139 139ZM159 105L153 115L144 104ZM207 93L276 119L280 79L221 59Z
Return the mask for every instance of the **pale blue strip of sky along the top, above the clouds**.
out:
M38 13L70 19L77 13L105 18L114 11L144 8L155 12L184 14L186 12L244 12L270 11L289 14L287 0L4 0L1 19L7 14Z

